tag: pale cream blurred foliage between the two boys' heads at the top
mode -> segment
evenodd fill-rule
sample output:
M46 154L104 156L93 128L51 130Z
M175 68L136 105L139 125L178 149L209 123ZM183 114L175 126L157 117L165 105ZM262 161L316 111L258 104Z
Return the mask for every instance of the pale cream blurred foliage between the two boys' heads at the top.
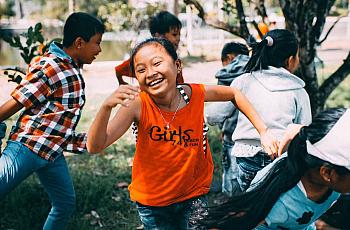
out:
M160 9L164 9L164 3L147 3L143 8L135 8L118 1L100 5L97 15L105 23L108 31L139 31L147 28L150 16Z

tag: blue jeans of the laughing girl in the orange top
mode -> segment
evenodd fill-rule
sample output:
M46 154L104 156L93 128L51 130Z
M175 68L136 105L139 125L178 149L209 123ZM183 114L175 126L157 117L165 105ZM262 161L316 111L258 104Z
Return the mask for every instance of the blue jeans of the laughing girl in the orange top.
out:
M206 196L189 199L165 207L136 203L145 230L205 229L198 223L208 215Z

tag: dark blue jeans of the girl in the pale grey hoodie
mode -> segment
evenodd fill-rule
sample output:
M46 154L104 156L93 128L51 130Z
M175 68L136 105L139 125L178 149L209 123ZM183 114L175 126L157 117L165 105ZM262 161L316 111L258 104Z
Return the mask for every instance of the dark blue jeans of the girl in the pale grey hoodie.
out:
M256 173L272 162L271 158L263 152L258 152L253 157L237 157L238 183L241 190L246 191Z

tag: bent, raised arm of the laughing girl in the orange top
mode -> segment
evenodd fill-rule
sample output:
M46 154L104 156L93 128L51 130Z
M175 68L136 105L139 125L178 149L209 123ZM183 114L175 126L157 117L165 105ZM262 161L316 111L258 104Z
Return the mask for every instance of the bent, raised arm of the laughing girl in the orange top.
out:
M100 152L128 130L140 111L138 93L138 87L122 85L103 102L88 132L88 152ZM122 107L109 121L112 109L118 104Z

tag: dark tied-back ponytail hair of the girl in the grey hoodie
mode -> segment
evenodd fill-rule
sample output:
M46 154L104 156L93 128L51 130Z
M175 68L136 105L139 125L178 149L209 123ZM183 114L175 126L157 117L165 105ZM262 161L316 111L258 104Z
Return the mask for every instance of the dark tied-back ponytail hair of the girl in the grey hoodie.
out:
M272 38L272 45L269 45L266 37ZM297 38L292 32L285 29L271 30L261 42L253 42L250 46L253 48L253 53L245 66L247 73L267 69L268 66L286 67L288 58L294 57L298 52Z

